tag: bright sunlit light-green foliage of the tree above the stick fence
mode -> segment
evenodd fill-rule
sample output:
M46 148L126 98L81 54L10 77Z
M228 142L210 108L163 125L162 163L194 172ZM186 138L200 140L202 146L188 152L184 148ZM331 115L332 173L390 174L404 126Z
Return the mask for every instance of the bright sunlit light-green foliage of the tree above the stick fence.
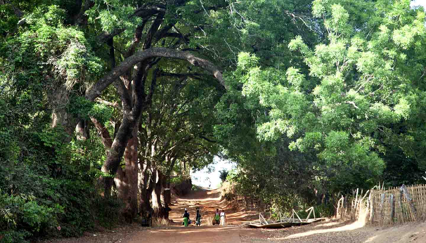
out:
M291 51L302 54L309 74L295 67L285 74L260 68L256 58L245 53L240 54L238 65L244 68L234 74L243 85L242 94L268 109L268 116L257 124L258 137L275 141L285 134L293 140L291 150L317 151L314 174L322 187L333 192L372 186L382 175L384 146L390 142L383 140L389 136L384 129L414 121L413 115L420 114L414 108L418 87L408 81L418 76L407 75L403 60L408 50L426 44L424 12L411 10L408 2L389 3L371 13L375 17L371 26L371 17L359 16L339 2L314 1L314 16L325 20L326 42L309 48L302 37L296 37L288 44ZM395 9L404 16L403 23L380 16ZM353 21L360 17L366 19L360 21L366 21L367 27L354 27L360 26ZM422 62L412 55L410 65ZM396 133L391 140L404 139L397 131L391 133Z

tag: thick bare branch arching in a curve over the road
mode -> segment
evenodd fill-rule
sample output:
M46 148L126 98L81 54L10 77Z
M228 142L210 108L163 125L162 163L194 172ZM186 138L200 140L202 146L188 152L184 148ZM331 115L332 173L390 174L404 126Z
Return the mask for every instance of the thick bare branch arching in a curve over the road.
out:
M86 98L92 101L95 100L101 94L102 90L107 88L108 85L118 79L118 77L125 73L129 68L132 68L138 62L142 62L153 57L186 60L194 66L209 71L223 87L227 88L222 72L219 71L219 68L217 68L212 62L196 57L189 52L176 51L174 49L167 48L149 48L147 50L138 51L131 57L124 59L120 65L116 66L110 73L105 75L103 78L98 80L95 85L93 85L92 90L89 91Z

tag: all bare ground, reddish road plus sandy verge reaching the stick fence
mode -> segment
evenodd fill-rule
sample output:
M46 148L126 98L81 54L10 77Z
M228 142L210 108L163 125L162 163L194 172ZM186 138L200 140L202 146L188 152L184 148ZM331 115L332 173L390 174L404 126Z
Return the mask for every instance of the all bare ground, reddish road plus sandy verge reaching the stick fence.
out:
M257 214L233 209L222 199L219 189L200 189L187 197L174 198L170 207L170 226L122 226L43 243L426 243L426 222L378 228L362 222L328 220L285 229L251 229L241 223L255 220ZM194 220L197 207L203 216L202 225L182 226L184 208ZM207 226L205 220L213 217L216 208L225 209L227 225Z

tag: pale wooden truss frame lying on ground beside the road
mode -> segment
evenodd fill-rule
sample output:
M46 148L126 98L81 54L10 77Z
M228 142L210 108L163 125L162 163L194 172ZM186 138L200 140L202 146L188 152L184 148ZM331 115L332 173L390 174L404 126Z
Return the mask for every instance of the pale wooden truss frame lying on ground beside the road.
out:
M315 218L315 210L314 207L310 207L309 209L306 209L305 212L309 212L308 217L301 219L299 215L297 215L296 211L291 213L290 217L287 217L285 215L279 214L279 218L275 220L268 219L266 220L265 217L262 215L262 213L259 213L259 220L252 221L250 223L243 223L246 226L250 226L253 228L282 228L282 227L289 227L294 225L303 225L303 224L309 224L320 220L325 220L327 218ZM311 217L313 213L314 218Z

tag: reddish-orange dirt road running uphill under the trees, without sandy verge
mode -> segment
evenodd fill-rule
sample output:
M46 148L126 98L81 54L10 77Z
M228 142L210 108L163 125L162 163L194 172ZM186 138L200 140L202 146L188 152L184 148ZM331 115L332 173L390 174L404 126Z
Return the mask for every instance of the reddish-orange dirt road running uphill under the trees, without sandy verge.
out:
M182 214L187 208L191 220L195 221L196 208L202 215L201 226L184 227L181 225ZM174 198L169 218L175 223L167 229L153 229L137 232L127 239L127 243L240 243L240 235L257 239L265 238L259 230L241 226L242 222L250 221L253 215L248 212L235 212L230 209L220 195L220 189L209 190L200 188L187 197ZM207 226L207 221L213 217L216 209L225 210L227 225ZM251 217L250 217L251 216Z

